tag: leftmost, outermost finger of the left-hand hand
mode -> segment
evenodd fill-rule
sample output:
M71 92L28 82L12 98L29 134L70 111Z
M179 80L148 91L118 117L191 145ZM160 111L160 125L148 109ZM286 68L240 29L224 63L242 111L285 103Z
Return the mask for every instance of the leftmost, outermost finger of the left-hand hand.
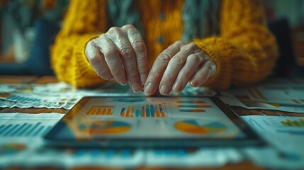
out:
M95 69L99 77L106 80L113 80L114 77L111 74L106 61L104 60L103 54L96 47L94 41L90 41L86 45L86 58L89 60L91 66Z

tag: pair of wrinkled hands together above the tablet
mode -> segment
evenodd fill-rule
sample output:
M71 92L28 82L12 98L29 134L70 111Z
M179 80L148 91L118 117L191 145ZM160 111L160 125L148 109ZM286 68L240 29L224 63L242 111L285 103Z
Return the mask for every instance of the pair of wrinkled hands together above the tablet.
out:
M167 95L182 91L186 84L201 86L215 74L216 65L206 52L191 43L176 41L154 61L150 70L147 49L132 25L113 27L86 45L85 54L99 77L129 84L134 92L151 96L159 89Z

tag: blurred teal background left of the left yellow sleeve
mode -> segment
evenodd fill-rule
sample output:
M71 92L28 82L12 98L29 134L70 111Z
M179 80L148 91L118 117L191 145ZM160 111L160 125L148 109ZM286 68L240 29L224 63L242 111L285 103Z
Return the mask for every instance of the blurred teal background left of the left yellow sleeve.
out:
M50 46L68 5L68 0L0 0L0 74L54 74Z

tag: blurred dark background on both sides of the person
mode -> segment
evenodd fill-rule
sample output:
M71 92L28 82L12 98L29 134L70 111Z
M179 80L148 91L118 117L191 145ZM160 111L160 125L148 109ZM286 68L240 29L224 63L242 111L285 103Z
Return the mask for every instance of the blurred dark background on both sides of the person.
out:
M0 0L0 74L52 75L50 46L68 0ZM264 1L269 30L276 36L279 77L304 76L304 1Z

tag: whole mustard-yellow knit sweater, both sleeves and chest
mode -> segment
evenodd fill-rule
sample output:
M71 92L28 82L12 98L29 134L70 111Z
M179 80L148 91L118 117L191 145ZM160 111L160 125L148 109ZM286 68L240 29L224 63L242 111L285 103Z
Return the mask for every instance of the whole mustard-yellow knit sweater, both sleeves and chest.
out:
M181 39L183 0L138 0L150 64L171 43ZM159 6L162 4L162 8ZM164 13L165 18L159 18ZM96 86L98 77L86 60L86 42L107 30L106 0L70 2L62 30L52 47L52 67L58 79L77 87ZM194 40L217 64L215 76L204 86L228 89L264 79L276 62L276 40L265 26L259 0L222 0L220 35ZM159 42L162 35L164 42Z

